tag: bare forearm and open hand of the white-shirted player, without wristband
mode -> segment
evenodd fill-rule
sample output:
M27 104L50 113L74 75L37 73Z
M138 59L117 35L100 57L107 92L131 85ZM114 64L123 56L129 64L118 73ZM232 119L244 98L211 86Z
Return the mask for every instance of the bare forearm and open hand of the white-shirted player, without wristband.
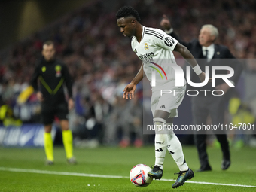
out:
M130 84L128 84L124 88L124 90L123 90L123 98L133 99L134 92L136 90L136 86L137 86L137 84L139 84L139 81L142 81L143 77L144 77L144 73L143 73L143 63L142 63L142 66L139 69L139 72L137 73L137 75L133 78L133 81L131 81Z

